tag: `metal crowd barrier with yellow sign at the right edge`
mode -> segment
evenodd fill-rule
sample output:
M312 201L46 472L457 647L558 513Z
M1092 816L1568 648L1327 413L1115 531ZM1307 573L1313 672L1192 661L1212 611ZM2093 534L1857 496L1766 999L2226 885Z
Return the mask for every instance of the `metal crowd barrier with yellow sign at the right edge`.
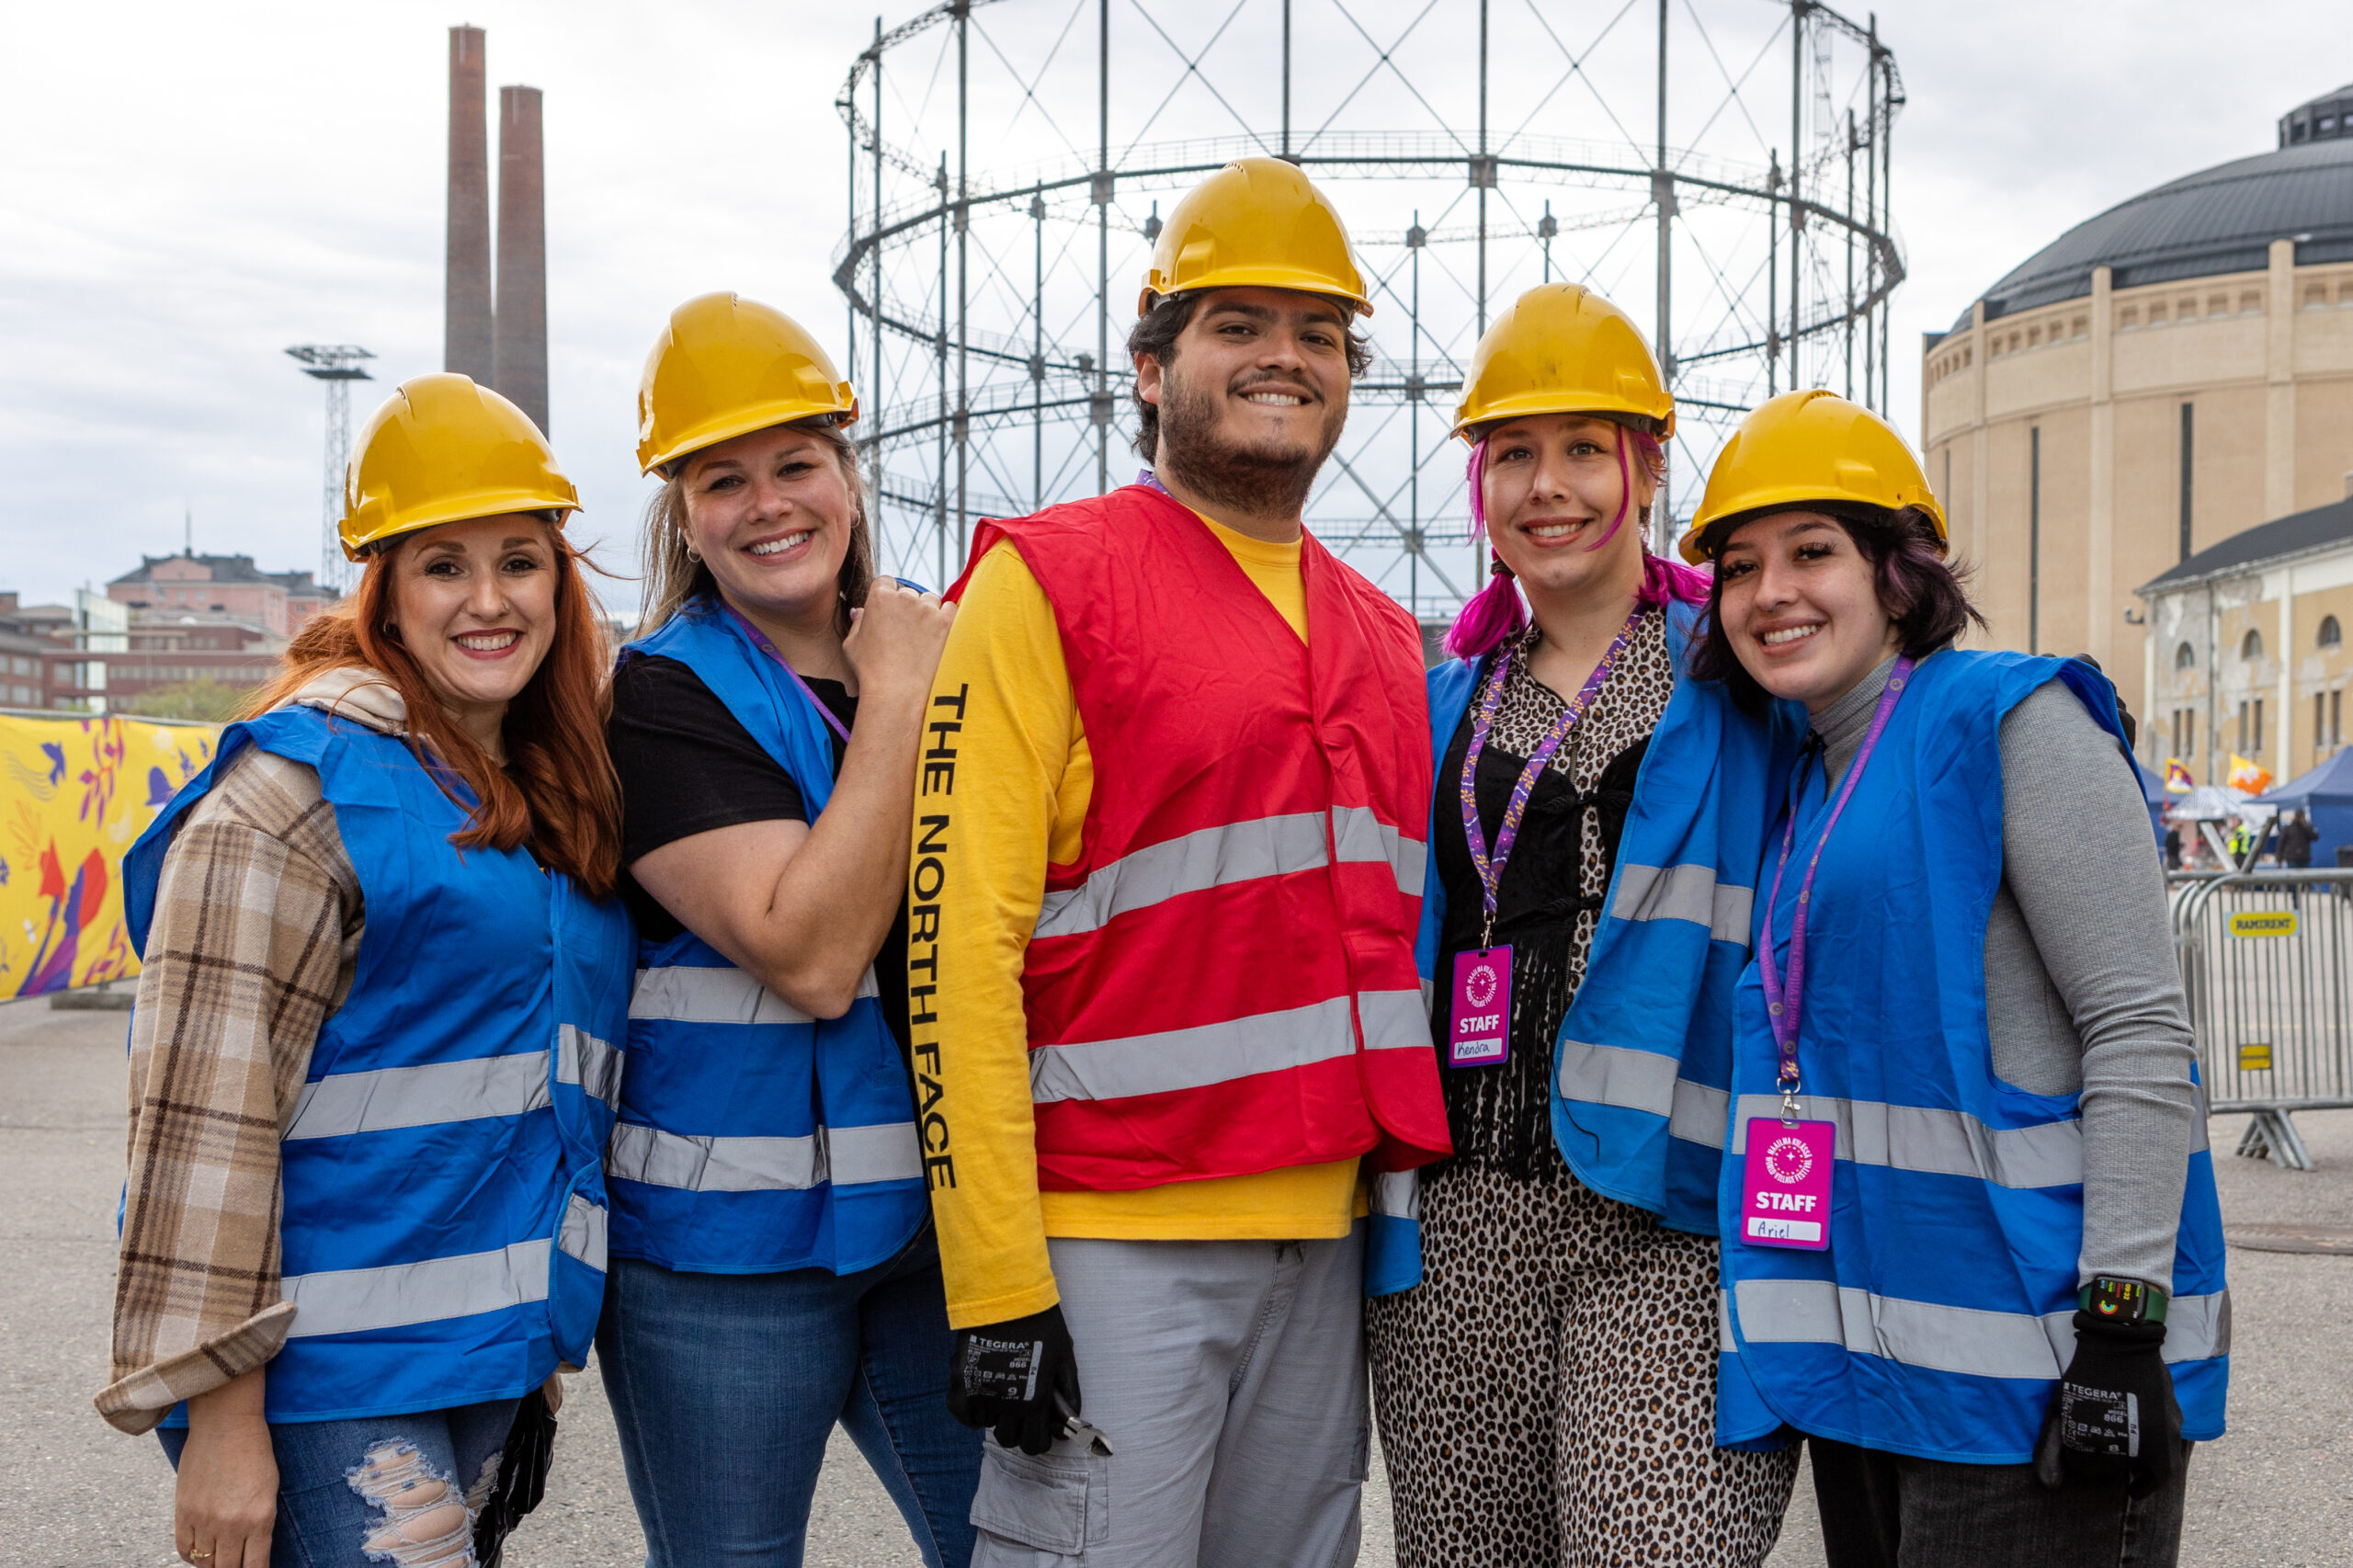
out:
M2238 1151L2313 1170L2294 1111L2353 1107L2353 869L2169 876L2209 1111Z

